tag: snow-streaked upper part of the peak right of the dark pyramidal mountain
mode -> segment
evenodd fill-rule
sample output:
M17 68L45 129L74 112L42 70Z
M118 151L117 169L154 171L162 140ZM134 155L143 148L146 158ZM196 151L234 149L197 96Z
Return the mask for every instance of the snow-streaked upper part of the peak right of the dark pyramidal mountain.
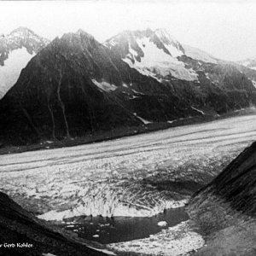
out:
M186 68L177 56L184 54L183 46L164 29L125 31L108 39L104 45L119 55L130 67L155 79L197 80L194 70Z

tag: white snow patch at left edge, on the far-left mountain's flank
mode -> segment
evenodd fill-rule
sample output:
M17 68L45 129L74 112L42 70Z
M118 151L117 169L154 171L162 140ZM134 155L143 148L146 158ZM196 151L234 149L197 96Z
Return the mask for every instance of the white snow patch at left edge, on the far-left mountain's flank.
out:
M0 99L17 82L20 71L34 55L35 53L29 54L25 47L9 53L9 58L0 66Z

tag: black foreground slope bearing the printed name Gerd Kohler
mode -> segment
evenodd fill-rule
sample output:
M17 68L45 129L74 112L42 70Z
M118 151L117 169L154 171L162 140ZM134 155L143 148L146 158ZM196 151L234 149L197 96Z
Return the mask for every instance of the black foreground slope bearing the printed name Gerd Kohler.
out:
M0 255L106 255L97 252L79 241L50 229L44 222L34 218L8 195L0 192L0 246L13 244L13 247L0 247ZM32 244L32 247L18 247L17 243Z

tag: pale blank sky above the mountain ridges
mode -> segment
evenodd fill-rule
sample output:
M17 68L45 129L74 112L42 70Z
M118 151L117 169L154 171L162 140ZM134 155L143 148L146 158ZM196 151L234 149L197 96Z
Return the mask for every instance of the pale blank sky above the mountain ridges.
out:
M256 58L256 1L0 1L0 34L26 26L45 38L79 28L99 42L124 30L166 28L181 44L228 61Z

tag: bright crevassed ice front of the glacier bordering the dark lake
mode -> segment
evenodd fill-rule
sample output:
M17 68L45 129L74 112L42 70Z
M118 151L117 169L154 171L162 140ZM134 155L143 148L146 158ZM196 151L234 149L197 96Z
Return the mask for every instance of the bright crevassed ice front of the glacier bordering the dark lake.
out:
M168 192L142 188L139 183L84 183L65 186L60 191L62 200L70 201L64 211L51 210L38 216L45 220L62 220L77 216L150 217L165 209L183 207L183 200L172 200Z

